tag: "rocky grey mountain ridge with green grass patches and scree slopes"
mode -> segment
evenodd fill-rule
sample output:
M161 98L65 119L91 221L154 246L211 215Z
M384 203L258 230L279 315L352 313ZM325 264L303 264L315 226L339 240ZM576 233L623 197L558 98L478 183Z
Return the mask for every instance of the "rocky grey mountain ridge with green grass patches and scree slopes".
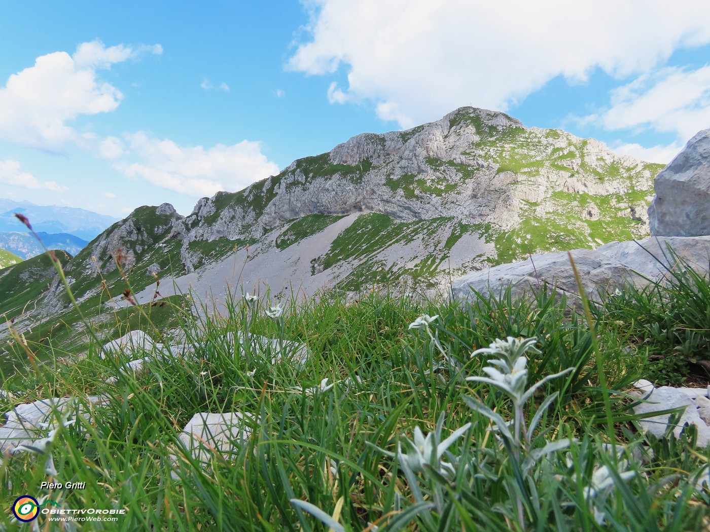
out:
M86 306L126 304L117 256L141 302L155 295L155 276L163 297L193 289L224 299L261 282L279 296L290 287L441 289L529 253L643 238L661 167L464 107L410 130L356 135L239 192L202 198L188 216L142 206L65 272ZM52 316L68 304L55 278L37 306Z

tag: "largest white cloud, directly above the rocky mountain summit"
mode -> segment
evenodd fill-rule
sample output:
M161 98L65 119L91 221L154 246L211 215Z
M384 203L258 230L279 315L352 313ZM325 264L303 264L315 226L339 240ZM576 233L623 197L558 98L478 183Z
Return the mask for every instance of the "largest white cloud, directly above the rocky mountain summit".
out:
M347 72L329 101L376 104L400 126L469 103L506 110L553 77L581 82L596 68L648 72L674 50L710 43L710 3L648 0L310 0L310 42L291 70Z

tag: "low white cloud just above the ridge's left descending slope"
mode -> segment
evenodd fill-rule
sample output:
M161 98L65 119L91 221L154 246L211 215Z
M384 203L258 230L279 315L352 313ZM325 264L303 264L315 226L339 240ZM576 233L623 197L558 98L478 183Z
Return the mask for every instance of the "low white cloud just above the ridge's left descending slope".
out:
M126 134L129 157L136 162L114 166L128 177L190 196L234 192L278 173L278 166L261 153L261 143L243 140L212 148L180 146L173 140L151 138L143 131Z

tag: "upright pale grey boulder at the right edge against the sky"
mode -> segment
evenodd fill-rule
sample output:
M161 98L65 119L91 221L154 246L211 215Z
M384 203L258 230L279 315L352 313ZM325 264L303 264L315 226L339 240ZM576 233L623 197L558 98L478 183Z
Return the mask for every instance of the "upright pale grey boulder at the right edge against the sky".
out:
M652 235L710 235L710 129L690 139L655 180Z

